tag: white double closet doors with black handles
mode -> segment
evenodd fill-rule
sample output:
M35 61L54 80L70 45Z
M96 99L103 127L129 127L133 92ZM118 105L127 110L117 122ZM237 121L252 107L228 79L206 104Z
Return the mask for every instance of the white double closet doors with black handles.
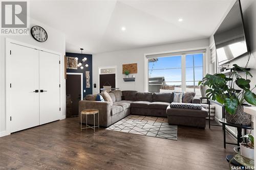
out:
M58 120L59 55L10 45L11 133Z

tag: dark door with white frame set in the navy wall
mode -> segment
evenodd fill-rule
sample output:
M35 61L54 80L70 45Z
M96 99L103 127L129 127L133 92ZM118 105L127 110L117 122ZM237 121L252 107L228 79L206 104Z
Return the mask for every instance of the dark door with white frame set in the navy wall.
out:
M79 101L83 99L83 74L67 72L66 79L66 117L76 117L79 112Z

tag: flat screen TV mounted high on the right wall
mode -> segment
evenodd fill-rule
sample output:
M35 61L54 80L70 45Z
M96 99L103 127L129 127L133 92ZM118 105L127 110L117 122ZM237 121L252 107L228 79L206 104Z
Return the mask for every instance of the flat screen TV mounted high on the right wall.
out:
M223 65L249 52L245 37L241 2L234 3L231 10L214 34L219 65Z

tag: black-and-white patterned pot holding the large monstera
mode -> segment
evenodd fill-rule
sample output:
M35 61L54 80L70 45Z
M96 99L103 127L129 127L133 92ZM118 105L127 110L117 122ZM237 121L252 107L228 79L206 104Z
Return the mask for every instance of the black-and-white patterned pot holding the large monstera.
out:
M238 125L251 125L251 115L244 112L244 106L238 106L234 114L225 113L226 121Z

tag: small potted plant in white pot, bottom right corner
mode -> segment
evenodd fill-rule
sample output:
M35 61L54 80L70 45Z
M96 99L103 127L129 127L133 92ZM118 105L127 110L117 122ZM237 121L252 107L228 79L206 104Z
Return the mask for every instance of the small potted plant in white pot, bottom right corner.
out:
M250 134L241 137L243 141L240 143L241 155L254 160L254 137Z

